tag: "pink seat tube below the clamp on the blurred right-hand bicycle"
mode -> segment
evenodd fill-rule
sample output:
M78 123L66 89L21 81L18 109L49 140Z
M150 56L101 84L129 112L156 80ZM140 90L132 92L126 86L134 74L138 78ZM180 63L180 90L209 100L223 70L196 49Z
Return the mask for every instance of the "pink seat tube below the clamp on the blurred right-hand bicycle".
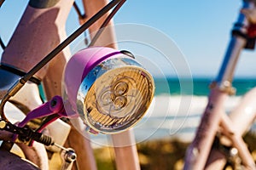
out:
M221 92L218 87L212 89L195 139L187 150L184 169L204 168L207 156L211 150L212 141L218 130L218 123L221 117L220 113L224 109L223 103L227 97L227 94Z

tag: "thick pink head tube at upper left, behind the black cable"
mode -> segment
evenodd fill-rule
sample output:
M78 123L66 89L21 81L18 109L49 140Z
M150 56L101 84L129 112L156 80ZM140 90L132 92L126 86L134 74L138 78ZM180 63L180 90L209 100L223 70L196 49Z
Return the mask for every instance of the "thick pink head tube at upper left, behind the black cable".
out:
M3 52L1 63L11 65L21 71L30 71L63 41L64 37L67 37L65 23L72 5L72 1L69 3L60 1L51 8L33 8L28 5ZM68 49L62 53L60 55L69 55ZM46 71L47 66L44 66L36 73L36 77L43 79Z

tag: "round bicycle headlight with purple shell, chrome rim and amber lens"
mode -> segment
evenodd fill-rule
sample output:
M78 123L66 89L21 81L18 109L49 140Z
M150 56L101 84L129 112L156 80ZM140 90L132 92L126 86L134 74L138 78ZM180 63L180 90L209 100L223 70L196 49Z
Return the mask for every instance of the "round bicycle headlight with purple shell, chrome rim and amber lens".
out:
M154 80L148 71L113 48L85 48L74 54L64 81L73 109L100 133L134 126L154 96Z

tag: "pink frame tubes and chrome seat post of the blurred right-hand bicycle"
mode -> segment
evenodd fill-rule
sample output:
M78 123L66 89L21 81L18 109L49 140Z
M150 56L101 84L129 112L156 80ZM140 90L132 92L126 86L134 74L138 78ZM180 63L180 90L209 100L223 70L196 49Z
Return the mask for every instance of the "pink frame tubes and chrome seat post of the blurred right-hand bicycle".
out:
M243 8L255 9L255 3L253 1L244 1ZM201 118L195 139L187 150L184 169L207 168L207 158L211 151L213 140L218 132L224 133L230 139L232 145L236 147L243 166L249 169L255 169L255 164L249 150L247 150L247 145L241 139L241 133L236 133L236 128L233 127L230 118L224 111L225 100L229 94L234 92L231 83L241 50L247 45L245 35L247 35L247 27L249 25L250 23L246 16L240 14L238 22L233 29L233 35L225 54L223 65L216 81L212 82L208 105ZM241 109L243 108L244 105L241 105ZM224 130L220 131L220 129ZM208 161L208 166L210 166L210 162ZM219 169L221 167L211 168Z

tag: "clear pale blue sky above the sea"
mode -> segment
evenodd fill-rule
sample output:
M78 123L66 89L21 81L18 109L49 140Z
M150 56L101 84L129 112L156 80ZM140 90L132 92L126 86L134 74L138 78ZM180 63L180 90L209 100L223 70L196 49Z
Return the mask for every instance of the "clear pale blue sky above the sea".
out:
M6 0L3 3L0 9L0 35L3 42L9 41L27 2L25 0ZM82 8L81 2L77 1L77 3ZM177 56L176 59L180 59L179 63L187 62L188 68L186 69L191 71L193 77L215 77L224 58L230 41L230 31L237 19L241 5L241 0L127 0L113 20L117 26L129 23L139 27L148 27L148 36L147 34L146 36L150 41L159 42L160 47L168 48L165 46L166 42L160 42L161 36L168 37L177 46L174 51L179 50L183 55L183 59L180 59L180 56ZM72 9L67 19L67 35L79 27L79 22L76 19L76 13ZM123 29L122 26L120 28ZM161 35L152 35L150 30ZM123 34L132 33L129 32L129 29L123 31ZM137 43L126 45L126 48L128 50L131 48L135 54L147 56L152 65L157 65L160 71L164 72L163 74L171 76L173 72L180 74L181 71L177 68L179 64L174 61L171 64L172 68L170 65L165 67L163 59L162 64L154 63L154 60L161 60L154 58L154 55L161 53L160 50L156 52ZM123 48L123 46L121 47ZM3 50L0 50L0 53L3 53ZM173 53L175 55L175 52ZM244 50L236 69L236 77L256 77L255 64L255 52Z

